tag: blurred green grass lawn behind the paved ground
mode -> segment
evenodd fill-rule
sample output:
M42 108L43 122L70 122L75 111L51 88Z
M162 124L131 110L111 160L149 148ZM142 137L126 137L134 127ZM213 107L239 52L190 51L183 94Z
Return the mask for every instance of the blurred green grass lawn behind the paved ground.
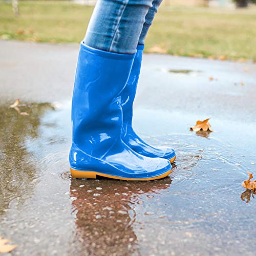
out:
M40 42L79 42L93 7L20 1L20 16L0 2L0 36ZM256 61L256 7L229 10L162 5L146 39L147 52Z

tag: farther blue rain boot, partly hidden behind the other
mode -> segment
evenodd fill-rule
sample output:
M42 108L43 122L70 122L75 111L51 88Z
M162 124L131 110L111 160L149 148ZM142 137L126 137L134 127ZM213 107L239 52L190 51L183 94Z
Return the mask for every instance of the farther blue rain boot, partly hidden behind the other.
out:
M143 156L165 158L170 160L170 162L173 162L176 159L176 154L173 148L165 146L153 147L151 145L148 145L133 130L133 102L140 75L143 49L144 45L138 45L130 77L127 81L125 88L120 94L123 110L122 139L126 143L126 145L132 148L132 150Z

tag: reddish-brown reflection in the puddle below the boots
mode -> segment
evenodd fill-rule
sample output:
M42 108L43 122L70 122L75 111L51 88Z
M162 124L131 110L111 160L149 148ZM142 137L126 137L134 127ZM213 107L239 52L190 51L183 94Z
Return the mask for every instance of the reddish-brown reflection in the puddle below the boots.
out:
M135 205L143 195L167 189L169 178L152 182L71 180L70 196L76 212L75 248L84 255L136 253ZM146 202L145 202L146 203ZM107 252L107 253L106 253Z

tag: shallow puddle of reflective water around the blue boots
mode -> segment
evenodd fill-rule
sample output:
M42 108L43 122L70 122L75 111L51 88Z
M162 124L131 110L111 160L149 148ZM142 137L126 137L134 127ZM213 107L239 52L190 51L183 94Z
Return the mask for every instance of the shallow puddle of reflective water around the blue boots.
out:
M13 255L254 254L256 195L241 183L256 174L255 122L215 118L215 132L196 134L191 113L138 108L142 137L176 149L172 174L76 180L70 103L23 111L29 116L0 108L0 234L18 244Z

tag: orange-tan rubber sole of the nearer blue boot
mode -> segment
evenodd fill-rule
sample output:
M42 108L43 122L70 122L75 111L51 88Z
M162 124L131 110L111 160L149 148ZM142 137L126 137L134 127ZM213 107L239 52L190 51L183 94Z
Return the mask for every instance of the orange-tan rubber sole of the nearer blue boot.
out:
M146 180L162 179L162 178L168 176L172 172L172 169L170 169L170 170L168 170L168 172L166 172L162 175L156 176L156 177L141 178L141 179L123 178L123 177L118 177L118 176L109 175L109 174L102 174L102 173L89 171L89 170L74 170L72 168L70 168L70 172L71 172L71 177L72 178L96 179L97 176L100 176L100 177L105 177L105 178L110 178L110 179L115 179L115 180L146 181Z

